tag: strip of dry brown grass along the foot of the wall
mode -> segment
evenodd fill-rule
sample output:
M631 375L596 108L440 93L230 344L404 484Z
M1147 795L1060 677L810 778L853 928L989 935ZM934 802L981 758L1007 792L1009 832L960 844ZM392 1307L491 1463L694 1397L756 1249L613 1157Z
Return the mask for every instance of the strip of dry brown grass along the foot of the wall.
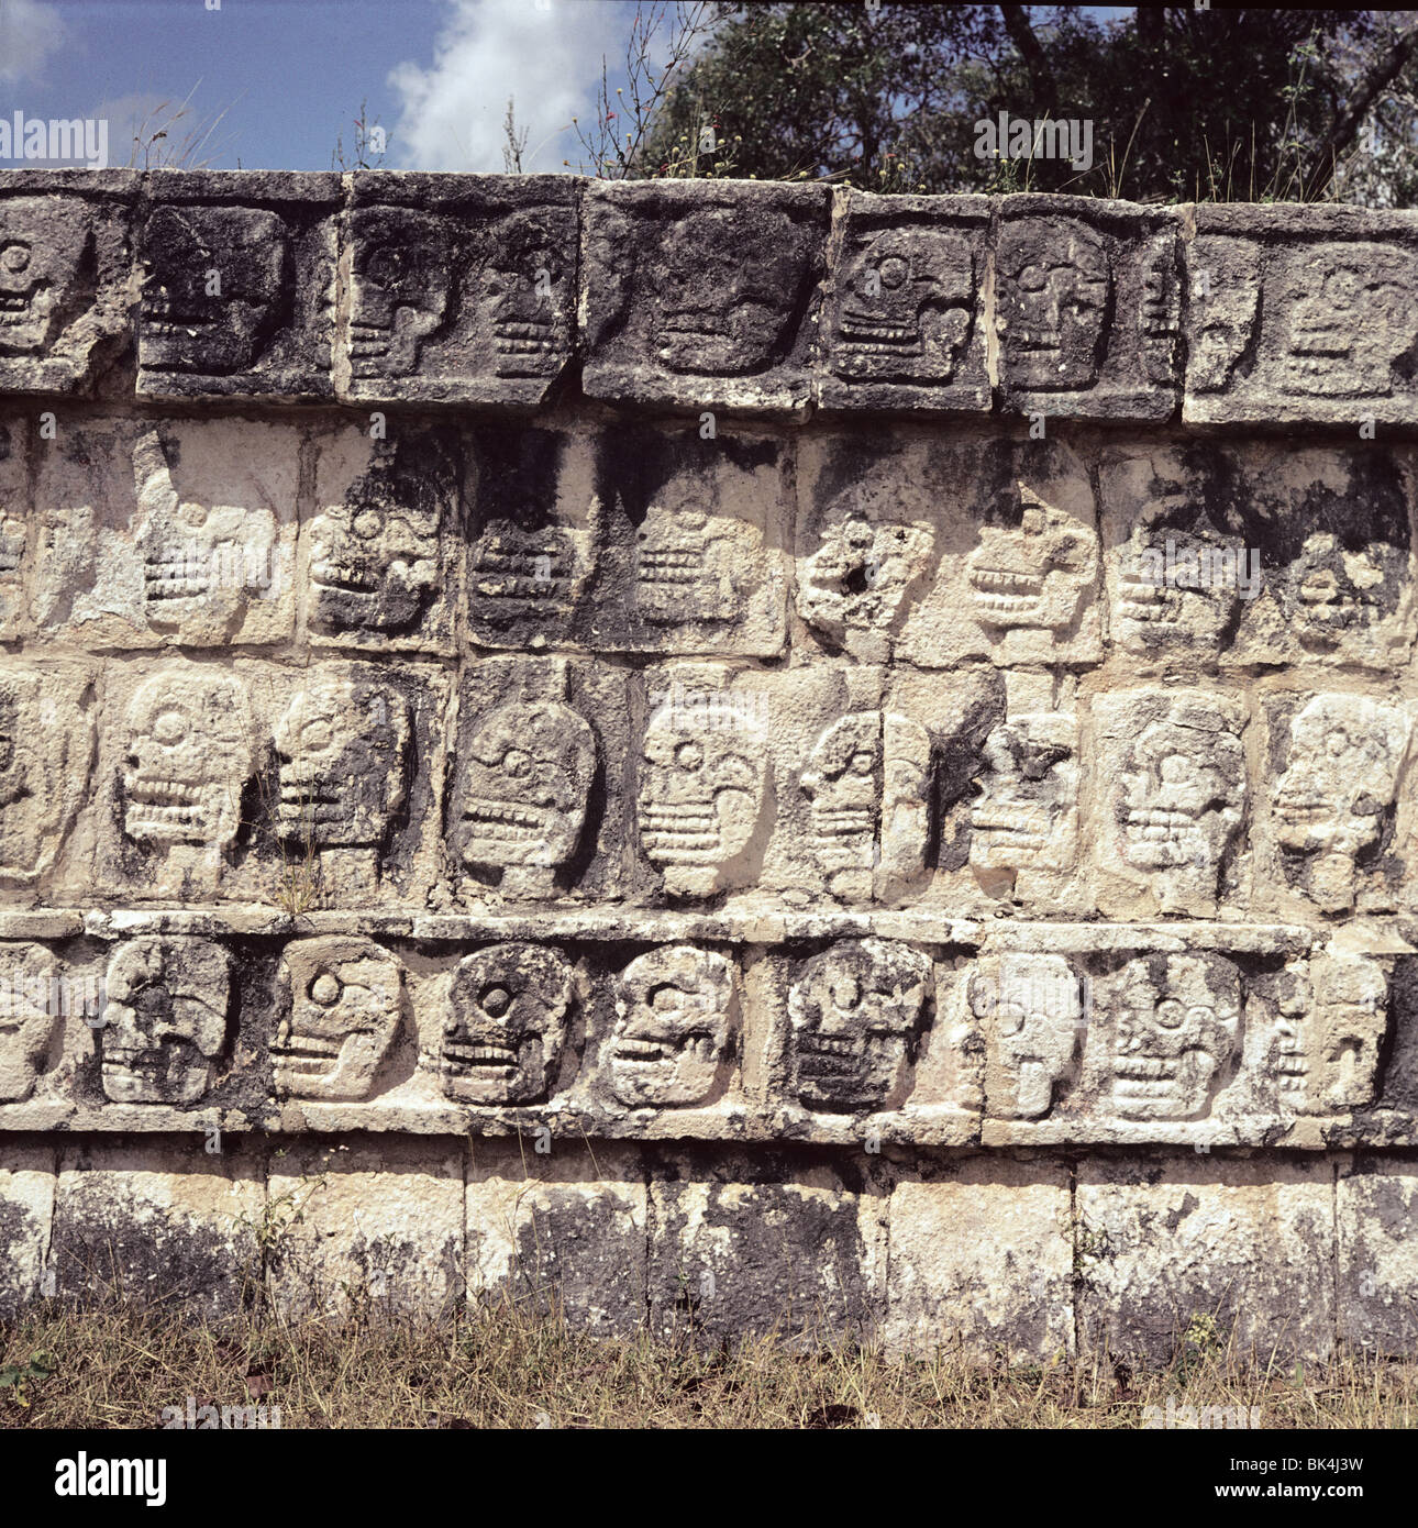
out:
M1132 1429L1143 1407L1244 1406L1262 1427L1412 1427L1418 1365L1242 1363L1187 1346L1169 1369L1094 1358L1044 1368L813 1354L764 1339L605 1340L503 1303L455 1322L365 1313L206 1325L119 1305L41 1302L0 1326L0 1427L151 1427L162 1407L280 1406L283 1427ZM8 1381L8 1383L6 1383Z

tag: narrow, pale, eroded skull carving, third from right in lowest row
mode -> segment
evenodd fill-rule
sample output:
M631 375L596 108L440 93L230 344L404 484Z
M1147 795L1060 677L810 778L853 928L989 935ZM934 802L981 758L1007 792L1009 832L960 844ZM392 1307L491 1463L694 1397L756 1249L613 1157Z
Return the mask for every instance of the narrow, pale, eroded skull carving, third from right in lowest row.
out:
M986 957L970 976L970 1012L986 1028L990 1112L1048 1114L1083 1025L1079 978L1062 955Z

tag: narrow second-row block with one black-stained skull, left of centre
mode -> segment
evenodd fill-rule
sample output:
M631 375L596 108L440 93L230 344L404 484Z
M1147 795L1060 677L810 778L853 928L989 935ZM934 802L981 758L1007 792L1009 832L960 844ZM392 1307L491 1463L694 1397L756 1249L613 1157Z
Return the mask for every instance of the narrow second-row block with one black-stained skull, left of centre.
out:
M321 645L452 652L461 576L460 448L445 426L393 420L318 435L315 513L296 584Z

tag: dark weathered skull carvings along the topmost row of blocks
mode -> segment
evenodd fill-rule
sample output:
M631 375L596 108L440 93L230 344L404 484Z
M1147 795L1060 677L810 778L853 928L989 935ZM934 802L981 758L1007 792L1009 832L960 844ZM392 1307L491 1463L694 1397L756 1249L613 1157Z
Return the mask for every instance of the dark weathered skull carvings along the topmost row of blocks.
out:
M567 277L575 222L565 208L458 219L371 206L347 217L351 246L348 359L356 379L419 371L420 350L454 324L483 338L494 376L547 377L571 348ZM792 345L814 280L813 225L788 209L686 206L642 229L630 275L654 356L671 371L762 371ZM43 356L86 307L93 231L64 199L0 200L0 354ZM984 281L983 251L964 229L859 226L843 251L828 324L828 364L848 382L944 385L970 336ZM299 257L275 211L165 205L147 219L139 359L148 371L234 376L296 322ZM1261 246L1199 238L1189 264L1207 280L1192 293L1190 382L1224 388L1255 348ZM212 281L212 272L220 280ZM591 278L594 281L594 261ZM1109 348L1137 356L1141 379L1175 382L1181 327L1177 240L1111 240L1074 217L1013 217L996 260L1001 368L1022 391L1082 391ZM1316 241L1265 277L1265 307L1282 315L1277 384L1291 393L1363 397L1392 391L1394 364L1418 322L1418 261L1389 244ZM1123 290L1135 336L1117 335ZM622 298L623 301L623 298Z

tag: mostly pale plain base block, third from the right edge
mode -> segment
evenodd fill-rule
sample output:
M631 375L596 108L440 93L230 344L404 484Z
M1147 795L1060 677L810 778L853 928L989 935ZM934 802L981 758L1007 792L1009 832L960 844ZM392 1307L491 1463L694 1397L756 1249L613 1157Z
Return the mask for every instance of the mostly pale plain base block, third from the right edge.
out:
M902 1169L888 1203L889 1349L1010 1363L1073 1355L1064 1164L966 1157Z

